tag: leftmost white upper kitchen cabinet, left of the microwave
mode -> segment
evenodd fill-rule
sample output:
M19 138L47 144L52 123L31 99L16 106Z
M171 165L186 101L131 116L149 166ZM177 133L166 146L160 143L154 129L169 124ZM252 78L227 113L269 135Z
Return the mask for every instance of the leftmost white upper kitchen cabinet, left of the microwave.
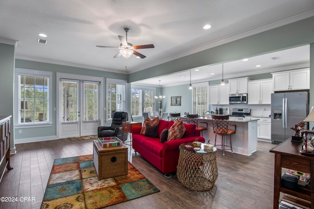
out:
M209 104L229 104L229 85L209 86Z

